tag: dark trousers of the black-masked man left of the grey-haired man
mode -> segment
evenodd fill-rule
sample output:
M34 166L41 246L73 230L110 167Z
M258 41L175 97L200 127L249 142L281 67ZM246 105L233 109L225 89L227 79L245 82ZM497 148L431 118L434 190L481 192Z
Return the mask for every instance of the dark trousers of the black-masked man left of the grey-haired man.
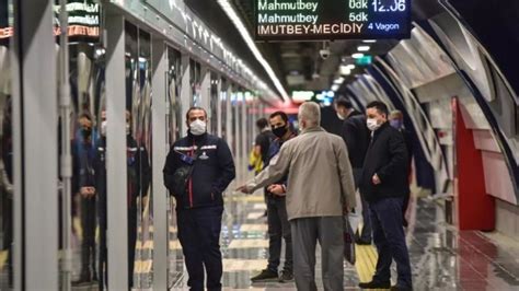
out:
M277 272L281 256L281 237L285 240L285 265L284 270L292 272L292 235L287 217L285 198L267 196L267 221L268 221L268 266L272 271Z

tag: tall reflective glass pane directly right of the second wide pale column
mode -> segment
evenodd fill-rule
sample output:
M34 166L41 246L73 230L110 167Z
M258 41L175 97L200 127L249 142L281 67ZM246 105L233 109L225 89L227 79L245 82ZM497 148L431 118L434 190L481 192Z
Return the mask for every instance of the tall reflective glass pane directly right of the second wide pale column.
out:
M150 288L149 280L138 280L135 265L150 241L148 229L150 208L150 143L151 143L151 48L150 35L130 23L126 34L126 149L127 153L127 206L128 206L128 286ZM140 228L138 228L140 225ZM149 245L149 244L146 244ZM139 247L137 247L139 246ZM139 252L139 254L136 254ZM141 269L149 273L151 269Z

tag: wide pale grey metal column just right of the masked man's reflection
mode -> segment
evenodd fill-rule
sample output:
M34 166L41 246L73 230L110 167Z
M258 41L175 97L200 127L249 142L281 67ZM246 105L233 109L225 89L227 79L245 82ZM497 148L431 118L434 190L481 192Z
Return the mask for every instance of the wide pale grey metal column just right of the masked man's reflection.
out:
M128 290L125 20L106 16L108 290Z

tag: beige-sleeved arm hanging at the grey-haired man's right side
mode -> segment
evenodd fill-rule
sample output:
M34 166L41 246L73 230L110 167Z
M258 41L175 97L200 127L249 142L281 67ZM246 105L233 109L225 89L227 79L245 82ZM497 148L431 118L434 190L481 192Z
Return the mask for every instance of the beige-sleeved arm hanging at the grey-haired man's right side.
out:
M341 179L341 190L343 201L345 203L345 209L355 208L357 205L357 199L355 197L355 182L351 170L351 164L349 163L348 151L344 142L339 142L338 150L336 153L337 165L338 165L338 175Z

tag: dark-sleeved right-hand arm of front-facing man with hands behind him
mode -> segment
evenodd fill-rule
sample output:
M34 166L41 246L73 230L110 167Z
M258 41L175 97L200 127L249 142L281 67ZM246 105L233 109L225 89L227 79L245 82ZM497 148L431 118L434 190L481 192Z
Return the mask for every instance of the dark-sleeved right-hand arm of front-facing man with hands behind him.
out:
M218 141L217 158L220 176L212 184L212 191L221 194L237 176L237 170L234 167L234 161L232 160L231 150L229 149L227 142L224 142L222 139L219 139Z

